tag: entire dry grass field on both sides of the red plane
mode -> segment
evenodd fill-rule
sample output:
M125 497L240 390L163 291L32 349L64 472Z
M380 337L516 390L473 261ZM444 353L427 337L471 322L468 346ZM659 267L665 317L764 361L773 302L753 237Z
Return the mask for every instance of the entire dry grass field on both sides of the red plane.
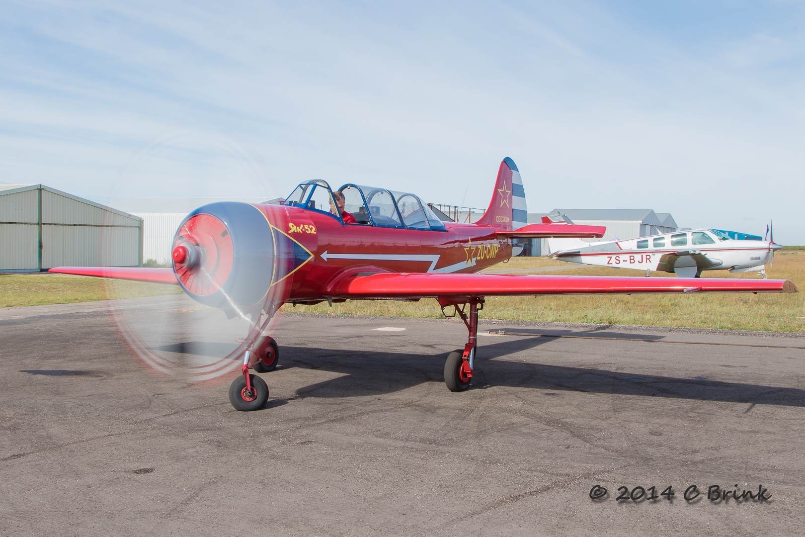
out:
M568 268L569 267L569 268ZM557 270L558 269L558 270ZM643 271L609 267L573 266L547 258L515 258L493 266L490 272L518 274L643 276ZM786 247L774 257L772 279L791 279L805 291L805 247ZM758 278L755 273L731 275L711 271L714 278ZM653 277L668 276L651 273ZM671 277L674 277L671 275ZM0 275L0 307L89 302L180 293L174 286L121 282L64 275ZM731 328L774 332L805 331L805 293L724 295L577 295L489 297L482 319L539 320L592 324L638 324L691 328ZM346 315L442 316L434 299L419 303L393 300L349 300L316 306L283 306L285 312L339 313Z

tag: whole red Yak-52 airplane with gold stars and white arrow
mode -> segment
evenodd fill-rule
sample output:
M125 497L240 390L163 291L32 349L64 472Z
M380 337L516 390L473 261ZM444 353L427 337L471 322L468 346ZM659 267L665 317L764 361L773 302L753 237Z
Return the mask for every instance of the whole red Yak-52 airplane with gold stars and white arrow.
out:
M526 225L525 194L512 159L501 163L492 193L480 221L460 224L440 221L413 194L345 184L334 196L326 182L312 180L299 184L283 204L224 201L196 209L175 234L172 268L51 271L180 285L230 318L250 316L249 333L221 366L232 370L242 358L242 374L229 387L229 400L240 411L266 404L268 386L250 371L277 366L279 349L267 327L289 302L435 298L443 311L455 308L469 337L463 349L449 354L444 382L462 391L473 378L478 311L486 296L796 291L789 280L473 274L509 259L517 238L593 238L605 232L566 222Z

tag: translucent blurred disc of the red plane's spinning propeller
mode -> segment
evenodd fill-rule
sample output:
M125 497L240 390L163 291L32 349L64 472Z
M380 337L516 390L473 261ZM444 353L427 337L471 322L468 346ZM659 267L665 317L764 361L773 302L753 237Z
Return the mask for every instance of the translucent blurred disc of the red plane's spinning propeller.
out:
M163 240L166 246L160 248L165 251L145 257L157 258L159 266L173 267L180 286L104 280L110 317L121 340L152 374L189 382L228 382L240 373L245 350L258 337L270 335L279 320L275 313L286 283L272 284L266 291L272 283L270 277L266 283L260 279L262 273L243 269L243 249L238 250L235 230L228 227L231 222L220 215L192 211L211 202L230 203L237 209L235 217L250 213L252 220L267 225L265 217L254 217L255 204L284 195L289 186L268 180L270 173L260 164L262 155L253 158L250 153L219 133L171 132L134 155L114 192L107 193L112 199L161 198L155 200L156 209L142 211L159 213L145 221L142 233ZM192 159L175 167L177 159L186 155ZM172 204L183 199L184 204L174 208ZM187 200L194 199L199 200L197 204L186 206ZM175 223L162 226L162 221ZM122 250L119 235L124 232L114 233L99 238L99 262L102 266L131 266L131 262L121 265L110 256L110 252ZM270 240L270 233L267 235ZM265 255L255 258L252 252L246 256L248 261L272 275L272 262L267 258L282 252L262 246L253 250L265 250ZM262 287L259 293L251 293L259 296L248 307L242 307L244 293L235 296L229 292L235 280L254 289Z

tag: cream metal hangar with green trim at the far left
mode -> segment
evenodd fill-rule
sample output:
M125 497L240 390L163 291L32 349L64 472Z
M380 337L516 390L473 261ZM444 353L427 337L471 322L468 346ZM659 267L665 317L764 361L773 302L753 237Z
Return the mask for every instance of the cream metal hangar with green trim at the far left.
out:
M43 184L0 184L0 271L139 266L142 219Z

